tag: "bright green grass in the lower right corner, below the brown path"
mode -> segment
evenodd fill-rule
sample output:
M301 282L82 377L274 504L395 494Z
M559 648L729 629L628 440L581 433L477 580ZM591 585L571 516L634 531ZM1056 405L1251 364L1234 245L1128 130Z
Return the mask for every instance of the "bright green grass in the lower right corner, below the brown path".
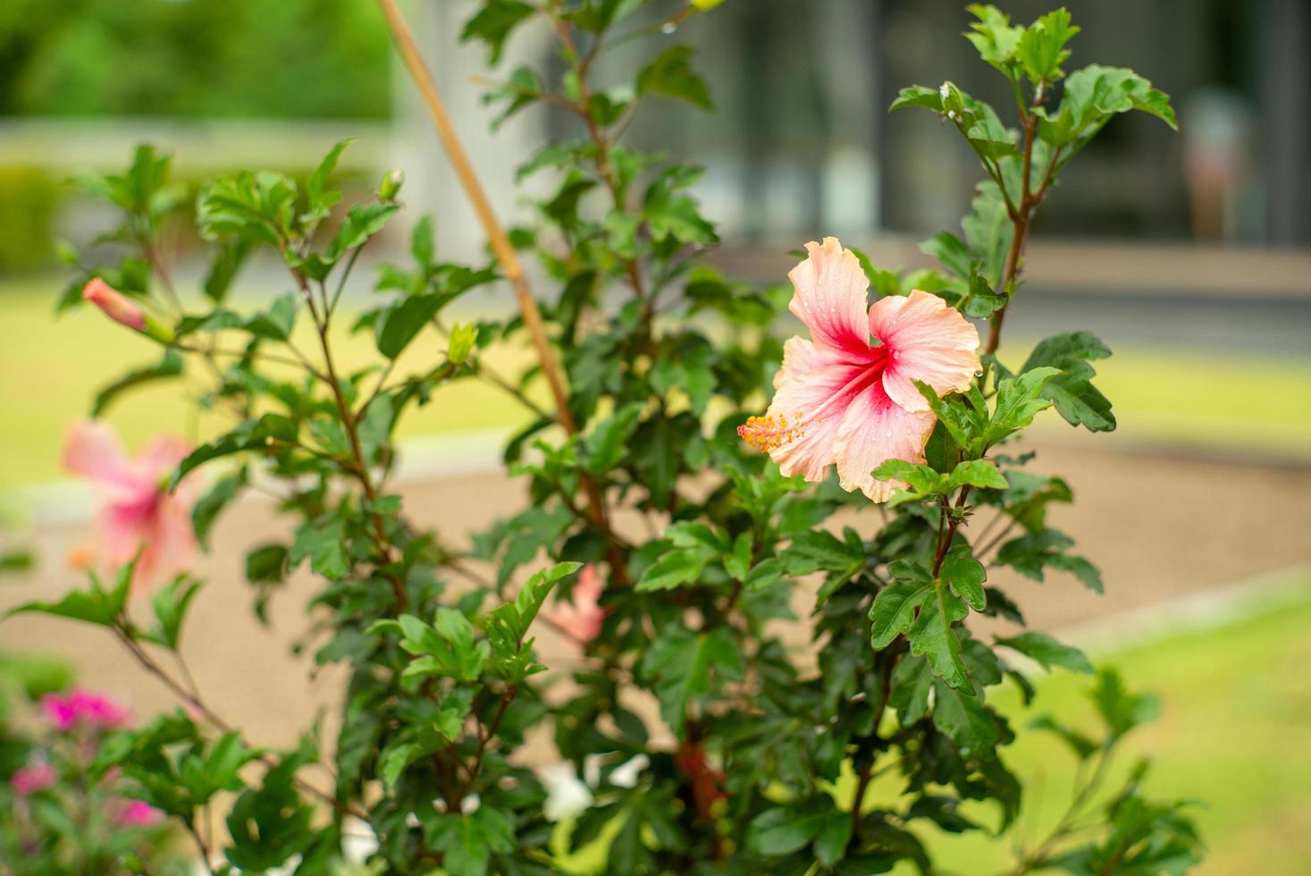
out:
M1285 591L1286 593L1286 591ZM1134 691L1154 691L1162 700L1155 723L1135 729L1122 744L1114 778L1139 757L1151 757L1146 783L1150 796L1196 801L1192 810L1207 854L1200 876L1255 873L1299 876L1311 872L1311 580L1299 582L1291 598L1243 619L1109 653L1096 662L1121 670ZM1013 687L992 688L988 702L1021 729L1050 713L1096 736L1096 712L1087 700L1092 679L1061 674L1038 681L1032 706L1021 706ZM948 834L916 824L936 873L978 876L1002 873L1013 866L1011 839L1033 845L1046 835L1070 801L1074 759L1055 737L1021 732L1002 753L1021 779L1027 796L1016 834L995 839L982 833ZM902 788L897 771L871 784L869 808L891 805ZM834 789L850 806L855 776ZM988 804L966 804L962 813L985 825L996 824ZM615 825L617 827L617 824ZM565 837L557 837L564 850ZM604 839L562 858L569 872L599 872ZM897 876L914 868L898 867Z

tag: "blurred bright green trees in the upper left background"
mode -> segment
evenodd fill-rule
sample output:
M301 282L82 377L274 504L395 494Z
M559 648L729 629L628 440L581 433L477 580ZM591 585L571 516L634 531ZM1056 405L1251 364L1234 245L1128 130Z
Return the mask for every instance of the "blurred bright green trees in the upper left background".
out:
M351 0L5 0L0 114L385 117L387 51Z

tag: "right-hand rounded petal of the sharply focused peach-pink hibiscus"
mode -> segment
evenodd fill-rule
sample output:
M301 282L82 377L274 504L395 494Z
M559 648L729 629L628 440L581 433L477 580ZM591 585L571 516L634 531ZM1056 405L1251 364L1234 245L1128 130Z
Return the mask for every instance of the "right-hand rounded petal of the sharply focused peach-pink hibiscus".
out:
M918 289L874 302L869 332L888 348L884 388L906 410L928 410L912 380L944 396L968 389L979 368L978 330L947 302Z

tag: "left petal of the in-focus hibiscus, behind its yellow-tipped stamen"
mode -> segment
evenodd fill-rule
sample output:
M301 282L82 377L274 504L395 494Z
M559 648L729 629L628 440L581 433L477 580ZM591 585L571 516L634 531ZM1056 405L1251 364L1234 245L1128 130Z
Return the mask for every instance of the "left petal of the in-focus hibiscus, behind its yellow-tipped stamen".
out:
M773 378L777 392L764 420L796 426L794 433L770 447L770 456L779 463L784 476L823 480L834 462L832 439L853 395L850 391L843 395L843 389L864 370L863 363L800 337L788 338L783 345L783 367Z

